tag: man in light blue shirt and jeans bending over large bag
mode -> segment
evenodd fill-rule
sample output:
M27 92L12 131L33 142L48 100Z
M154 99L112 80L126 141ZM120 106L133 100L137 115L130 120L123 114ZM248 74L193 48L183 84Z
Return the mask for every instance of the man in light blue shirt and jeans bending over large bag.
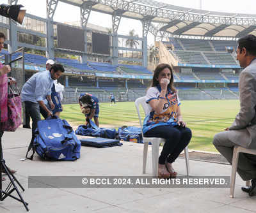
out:
M51 110L46 107L43 99L45 96L51 98L53 82L60 78L64 71L61 64L53 64L51 70L34 74L22 87L21 101L25 103L26 112L32 119L32 138L37 122L41 120L40 108L45 111L47 117L52 116ZM54 108L53 103L51 108Z

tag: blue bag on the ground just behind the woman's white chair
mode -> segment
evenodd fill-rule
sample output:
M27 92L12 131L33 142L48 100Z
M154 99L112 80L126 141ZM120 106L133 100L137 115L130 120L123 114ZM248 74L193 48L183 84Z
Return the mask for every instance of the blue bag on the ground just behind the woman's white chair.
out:
M127 142L143 143L141 128L136 126L122 126L122 128L118 128L118 136L120 140Z

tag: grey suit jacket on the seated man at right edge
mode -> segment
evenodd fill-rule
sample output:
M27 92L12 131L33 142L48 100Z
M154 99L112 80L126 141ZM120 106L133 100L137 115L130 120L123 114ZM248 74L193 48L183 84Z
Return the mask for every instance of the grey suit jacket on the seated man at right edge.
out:
M242 147L256 149L256 59L240 74L239 99L240 111L229 128L232 132L229 139Z

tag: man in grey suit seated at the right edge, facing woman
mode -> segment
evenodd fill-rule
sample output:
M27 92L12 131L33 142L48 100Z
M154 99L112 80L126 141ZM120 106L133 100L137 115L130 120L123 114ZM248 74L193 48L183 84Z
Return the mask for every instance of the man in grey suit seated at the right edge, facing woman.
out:
M256 149L256 37L249 34L237 42L237 60L244 68L239 77L240 110L232 126L217 133L213 140L230 164L235 145ZM252 181L250 188L242 190L256 195L256 156L240 153L237 172L243 180Z

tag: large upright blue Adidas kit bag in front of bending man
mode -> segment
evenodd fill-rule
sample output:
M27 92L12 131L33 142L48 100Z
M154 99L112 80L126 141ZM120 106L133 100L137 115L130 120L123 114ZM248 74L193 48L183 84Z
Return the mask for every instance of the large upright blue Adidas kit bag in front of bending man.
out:
M33 154L28 158L31 149ZM80 149L81 142L68 122L53 116L37 122L26 158L33 159L36 152L43 159L74 161L80 158Z

